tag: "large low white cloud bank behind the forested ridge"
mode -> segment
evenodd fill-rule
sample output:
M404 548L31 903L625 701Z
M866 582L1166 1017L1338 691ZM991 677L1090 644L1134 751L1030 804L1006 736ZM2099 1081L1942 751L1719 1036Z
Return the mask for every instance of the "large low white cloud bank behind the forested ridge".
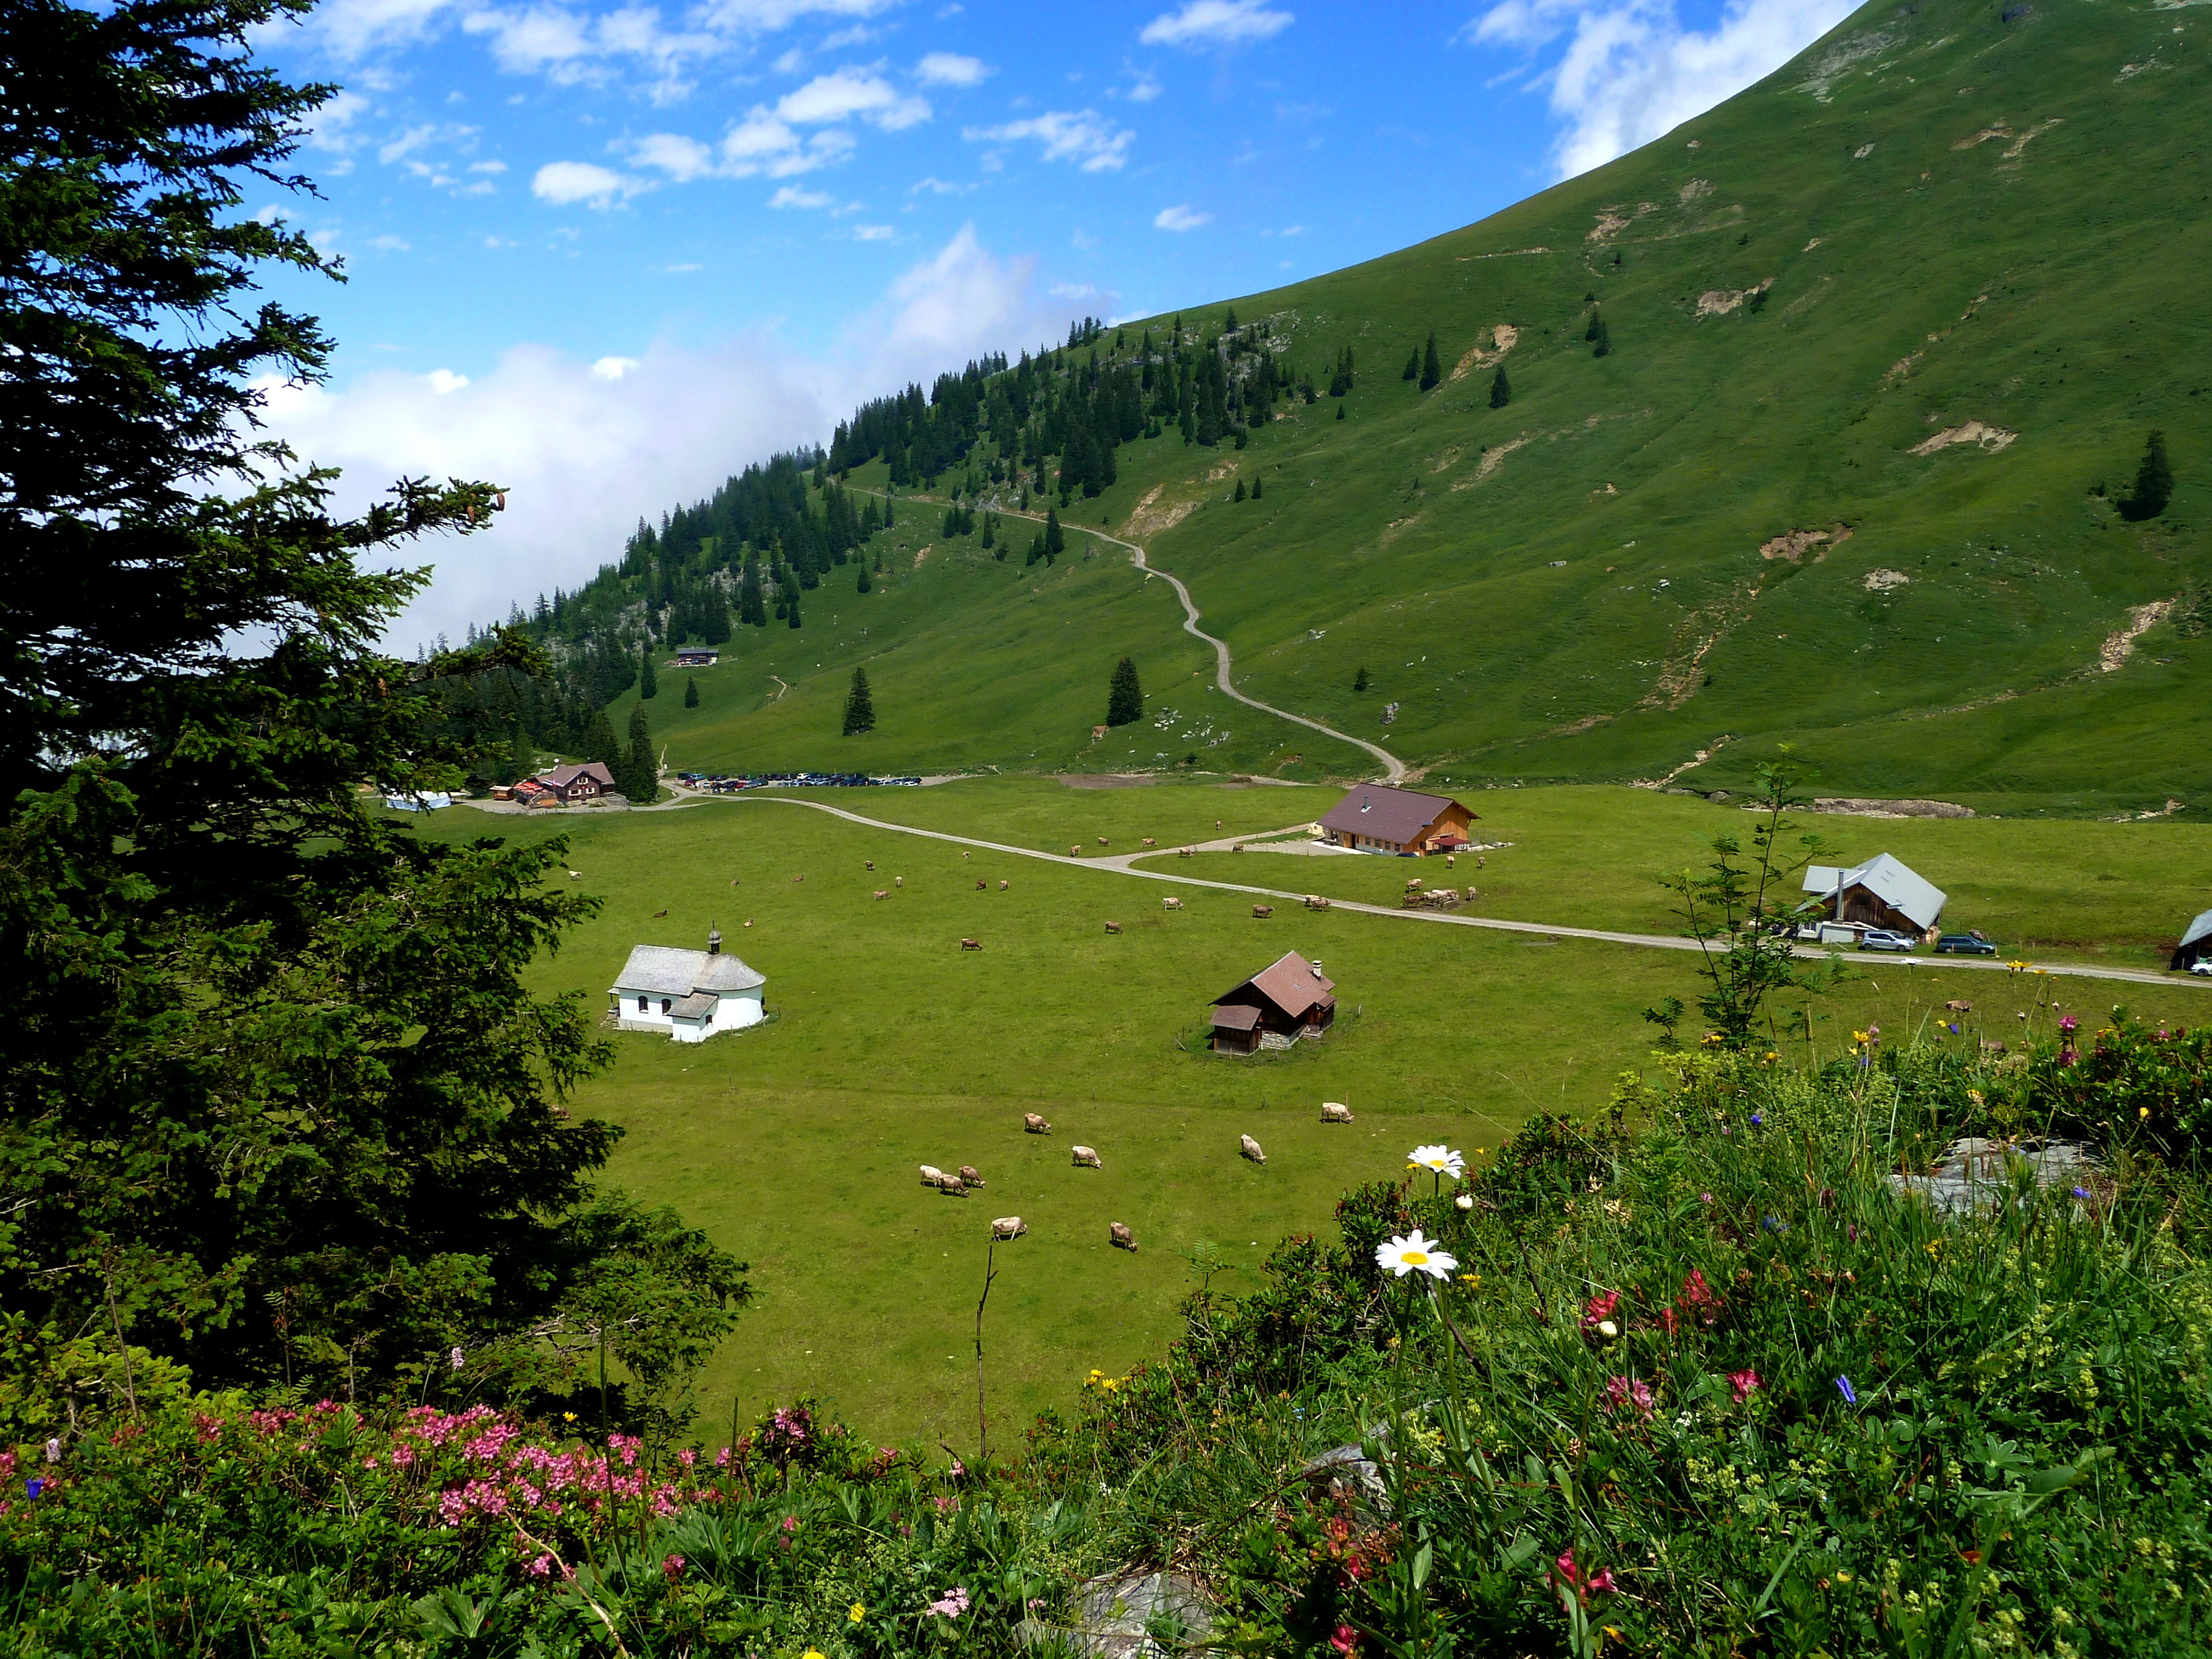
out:
M345 469L341 511L403 476L487 478L509 491L487 531L389 555L436 566L394 630L411 650L580 584L619 557L639 515L697 500L774 449L827 440L858 400L1057 336L1075 310L1035 294L1029 261L995 259L962 230L854 319L830 361L763 336L595 363L518 345L473 378L385 369L343 389L272 387L265 414L303 458Z

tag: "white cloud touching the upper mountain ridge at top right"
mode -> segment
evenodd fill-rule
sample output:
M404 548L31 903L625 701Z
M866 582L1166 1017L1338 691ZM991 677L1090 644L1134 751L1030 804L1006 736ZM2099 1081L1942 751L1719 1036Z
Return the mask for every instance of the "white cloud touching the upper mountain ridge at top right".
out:
M1728 0L1710 31L1683 29L1672 0L1502 0L1460 40L1540 51L1564 122L1559 177L1648 144L1772 73L1851 13L1849 0Z

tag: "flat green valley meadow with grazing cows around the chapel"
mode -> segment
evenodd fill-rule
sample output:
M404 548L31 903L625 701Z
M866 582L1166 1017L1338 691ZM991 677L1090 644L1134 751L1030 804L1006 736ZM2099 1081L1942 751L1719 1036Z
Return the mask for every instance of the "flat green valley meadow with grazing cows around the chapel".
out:
M1164 847L1210 836L1217 818L1225 834L1281 827L1332 796L969 779L807 799L1048 852L1104 834L1106 852L1124 852L1141 836ZM1743 818L1630 790L1493 790L1475 807L1484 838L1515 843L1486 854L1478 909L1655 931L1666 918L1648 869L1697 858L1703 836ZM2088 927L2077 889L2108 894L2115 960L2141 960L2126 929L2159 925L2168 856L2197 891L2212 874L2203 832L2172 823L1820 827L1922 863L1953 885L1953 902L1971 891L1991 916L2000 902L2051 916L2051 931ZM1891 834L1933 830L1951 832L1958 872L1938 843ZM2055 832L2073 838L2026 838ZM752 1263L759 1303L706 1376L708 1422L818 1394L867 1433L971 1444L984 1223L1020 1214L1031 1232L1000 1252L987 1321L993 1420L1011 1433L1026 1413L1064 1407L1091 1367L1121 1371L1157 1354L1199 1270L1219 1265L1217 1285L1250 1287L1250 1267L1283 1234L1323 1228L1347 1186L1396 1175L1413 1144L1473 1152L1535 1110L1601 1106L1648 1051L1641 1011L1694 993L1690 958L1668 951L1283 905L1254 920L1241 894L962 849L790 796L560 821L460 807L425 834L568 836L575 885L604 909L540 964L542 989L604 1006L633 945L697 947L710 927L768 975L770 1024L701 1046L617 1033L615 1066L577 1099L628 1130L613 1179L679 1206ZM1256 852L1170 854L1164 867L1369 900L1402 889L1409 872L1444 874L1438 860ZM1161 909L1166 891L1181 911ZM1124 931L1106 933L1108 920ZM960 951L960 938L982 951ZM1336 982L1336 1031L1287 1055L1206 1053L1208 1002L1287 949ZM2212 1009L2212 987L2190 982L1856 967L1863 978L1814 1009L1816 1051L1867 1022L1927 1031L1931 1004L1953 995L1978 1004L1964 1040L2015 1029L2037 995L2084 1013L2126 998L2183 1022ZM1323 1126L1323 1099L1347 1102L1356 1121ZM1053 1133L1024 1135L1029 1110ZM1265 1168L1239 1157L1239 1135L1263 1144ZM1104 1170L1073 1168L1073 1144L1097 1148ZM989 1186L947 1199L920 1186L920 1164L973 1164ZM1108 1221L1135 1230L1135 1256L1108 1248Z

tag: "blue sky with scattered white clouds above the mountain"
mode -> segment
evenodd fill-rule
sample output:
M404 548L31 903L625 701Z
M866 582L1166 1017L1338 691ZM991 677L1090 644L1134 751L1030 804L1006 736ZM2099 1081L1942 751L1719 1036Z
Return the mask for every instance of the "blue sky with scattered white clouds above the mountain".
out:
M1484 217L1765 75L1843 0L1035 7L325 0L261 51L343 93L270 195L345 257L272 425L491 476L422 637L860 396L1071 316L1272 288Z

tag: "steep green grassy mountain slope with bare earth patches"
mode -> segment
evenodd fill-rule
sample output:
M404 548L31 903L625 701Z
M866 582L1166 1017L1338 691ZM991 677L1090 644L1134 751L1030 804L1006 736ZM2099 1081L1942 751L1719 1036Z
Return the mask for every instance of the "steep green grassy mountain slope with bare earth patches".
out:
M1241 688L1431 779L1705 750L1683 781L1721 787L1796 741L1825 792L2190 799L2212 783L2208 29L2174 4L1867 7L1597 173L1234 299L1298 376L1349 345L1349 394L1292 398L1243 449L1126 442L1068 522L1186 577ZM1115 338L1146 327L1170 319ZM1422 392L1398 372L1431 330ZM2130 522L2152 427L2179 484ZM1172 595L1117 551L1024 566L1020 526L995 562L940 515L911 502L883 538L887 591L810 608L803 637L737 628L695 710L664 690L670 761L1363 770L1203 690ZM1124 653L1172 719L1093 741ZM885 719L841 741L854 661Z

